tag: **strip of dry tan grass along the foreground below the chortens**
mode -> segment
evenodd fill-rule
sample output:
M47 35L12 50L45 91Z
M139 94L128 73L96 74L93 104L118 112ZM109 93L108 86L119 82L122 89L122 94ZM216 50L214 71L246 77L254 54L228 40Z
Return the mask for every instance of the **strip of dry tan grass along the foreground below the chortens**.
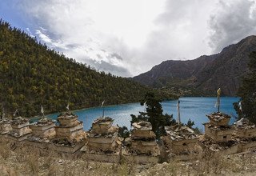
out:
M10 150L10 144L0 142L0 175L254 175L256 153L220 156L205 152L199 161L156 165L138 165L132 160L121 164L90 162L85 158L62 159L54 152L20 146Z

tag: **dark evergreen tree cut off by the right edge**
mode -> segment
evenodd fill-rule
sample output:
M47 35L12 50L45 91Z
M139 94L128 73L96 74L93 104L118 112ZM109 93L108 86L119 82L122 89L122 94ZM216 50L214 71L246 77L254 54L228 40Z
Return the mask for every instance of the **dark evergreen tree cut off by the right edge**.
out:
M250 54L250 72L242 80L242 86L238 90L241 97L242 110L238 103L234 103L234 108L241 117L248 118L250 122L256 124L256 52Z

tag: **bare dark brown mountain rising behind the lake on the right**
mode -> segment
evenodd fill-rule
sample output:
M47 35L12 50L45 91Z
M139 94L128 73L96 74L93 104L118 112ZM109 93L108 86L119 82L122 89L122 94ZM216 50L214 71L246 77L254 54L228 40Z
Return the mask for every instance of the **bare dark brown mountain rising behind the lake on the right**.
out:
M132 78L146 86L187 90L185 94L213 95L218 87L224 95L234 96L241 78L248 72L249 54L256 50L256 36L249 36L220 53L194 60L169 60Z

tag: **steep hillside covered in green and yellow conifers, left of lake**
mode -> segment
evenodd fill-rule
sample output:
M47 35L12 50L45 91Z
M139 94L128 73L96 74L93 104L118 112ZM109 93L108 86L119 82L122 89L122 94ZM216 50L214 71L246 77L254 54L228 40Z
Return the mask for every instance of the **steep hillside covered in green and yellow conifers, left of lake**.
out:
M106 104L138 102L150 88L66 58L0 20L0 105L23 116ZM171 94L162 94L171 98ZM2 108L1 108L2 109ZM1 110L2 111L2 110Z

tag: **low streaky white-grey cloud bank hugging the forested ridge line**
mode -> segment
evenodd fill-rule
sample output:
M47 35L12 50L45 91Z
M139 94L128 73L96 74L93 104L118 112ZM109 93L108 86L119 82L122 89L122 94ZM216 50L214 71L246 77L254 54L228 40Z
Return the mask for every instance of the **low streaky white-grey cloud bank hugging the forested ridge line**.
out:
M35 34L41 42L45 42L47 46L54 48L55 50L61 50L66 54L78 58L78 62L84 62L96 70L103 70L106 73L111 73L115 75L122 75L129 77L130 71L126 69L123 64L122 56L117 53L110 53L106 50L98 50L98 48L88 48L80 44L70 44L70 42L63 42L62 40L55 41L51 39L47 34L47 30L41 31L36 30Z

